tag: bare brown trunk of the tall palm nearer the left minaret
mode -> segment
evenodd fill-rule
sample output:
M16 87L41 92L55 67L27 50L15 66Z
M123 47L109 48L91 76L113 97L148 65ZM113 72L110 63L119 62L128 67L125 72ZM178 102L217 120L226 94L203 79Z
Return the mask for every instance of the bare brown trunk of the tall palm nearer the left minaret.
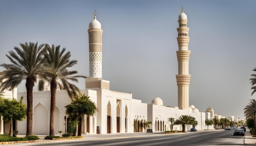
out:
M51 82L50 135L54 135L54 115L56 106L56 82Z

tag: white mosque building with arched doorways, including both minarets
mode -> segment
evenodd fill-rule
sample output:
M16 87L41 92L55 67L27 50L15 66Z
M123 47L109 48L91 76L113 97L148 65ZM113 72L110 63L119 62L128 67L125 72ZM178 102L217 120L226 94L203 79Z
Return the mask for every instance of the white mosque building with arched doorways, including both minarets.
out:
M200 112L194 105L189 106L189 28L187 27L187 16L185 13L179 15L177 28L177 60L178 75L176 75L178 86L178 107L164 106L161 98L156 97L151 104L142 103L141 100L132 99L132 93L122 93L110 90L110 81L102 78L102 33L101 23L96 19L90 22L88 29L89 36L89 62L90 75L85 80L85 90L81 93L90 96L95 102L98 112L94 116L85 116L82 133L107 134L107 133L132 133L145 132L142 128L145 121L152 122L150 128L155 131L170 130L168 118L178 119L181 115L191 115L198 121L195 127L198 130L206 128L205 119L212 118L214 113L207 108L206 112ZM45 87L47 89L47 86ZM7 93L8 95L10 93ZM26 104L26 92L14 92L18 100L24 96ZM65 114L65 106L71 100L66 91L56 91L55 109L55 133L66 131L69 118ZM33 133L49 135L50 115L50 91L33 92ZM67 117L66 119L64 117ZM26 133L26 120L16 122L14 125L19 134ZM192 125L188 125L190 129ZM0 121L0 132L8 132L9 124ZM181 125L176 125L174 130L182 130Z

